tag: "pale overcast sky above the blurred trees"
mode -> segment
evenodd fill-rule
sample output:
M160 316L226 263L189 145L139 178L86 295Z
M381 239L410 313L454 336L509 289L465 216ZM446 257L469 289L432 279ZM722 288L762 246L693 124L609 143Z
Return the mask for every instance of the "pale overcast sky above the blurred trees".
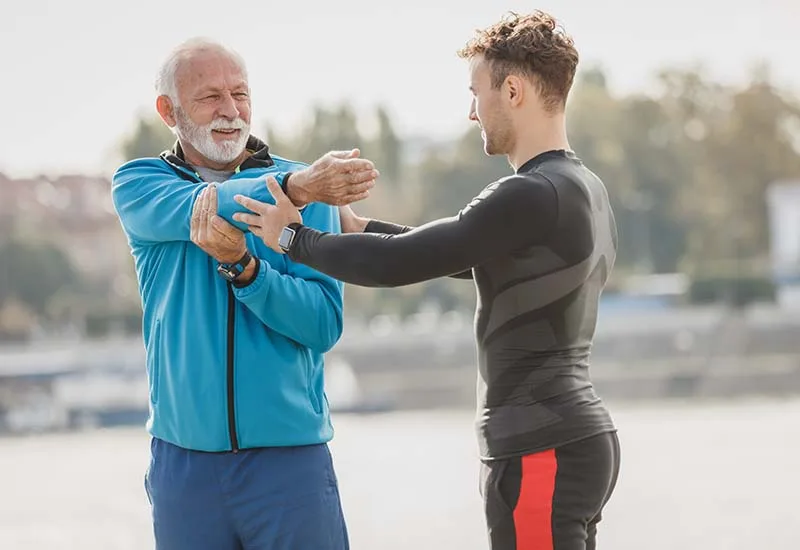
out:
M627 4L627 6L626 6ZM800 95L800 1L746 0L1 0L0 172L109 174L153 78L183 40L206 36L244 56L254 133L302 127L315 103L388 107L404 137L468 127L467 69L455 51L503 13L544 9L573 35L580 69L602 66L619 93L662 67L705 66L742 82L759 60ZM795 36L792 36L792 35ZM357 145L357 144L354 144Z

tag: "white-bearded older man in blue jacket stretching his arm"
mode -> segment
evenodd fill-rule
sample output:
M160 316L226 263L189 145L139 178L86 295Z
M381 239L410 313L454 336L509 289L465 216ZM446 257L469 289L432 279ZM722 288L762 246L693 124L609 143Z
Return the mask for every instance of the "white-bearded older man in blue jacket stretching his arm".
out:
M307 224L338 232L322 202L366 197L378 173L357 150L310 166L272 155L249 132L245 64L219 44L178 47L157 92L177 143L112 183L144 310L156 546L348 548L323 381L342 284L225 220L234 195L269 200L270 175Z

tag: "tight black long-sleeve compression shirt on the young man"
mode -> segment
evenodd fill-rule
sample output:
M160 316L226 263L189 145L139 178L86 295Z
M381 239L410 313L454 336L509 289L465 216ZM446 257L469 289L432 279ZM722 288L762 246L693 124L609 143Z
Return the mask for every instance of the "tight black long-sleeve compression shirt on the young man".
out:
M614 430L588 366L616 224L603 183L573 153L535 157L452 218L417 228L374 221L368 229L382 233L299 226L288 254L363 286L472 270L484 459Z

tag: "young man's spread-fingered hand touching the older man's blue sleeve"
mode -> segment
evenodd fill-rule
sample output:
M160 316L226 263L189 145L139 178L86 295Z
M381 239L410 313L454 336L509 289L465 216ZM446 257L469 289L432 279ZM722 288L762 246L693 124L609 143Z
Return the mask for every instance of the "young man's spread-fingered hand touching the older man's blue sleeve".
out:
M274 206L250 197L236 195L233 200L253 213L237 212L233 215L233 219L247 224L253 235L261 237L264 244L278 254L283 254L283 250L278 245L278 238L283 228L290 223L302 223L303 218L272 176L267 176L267 189L275 199Z

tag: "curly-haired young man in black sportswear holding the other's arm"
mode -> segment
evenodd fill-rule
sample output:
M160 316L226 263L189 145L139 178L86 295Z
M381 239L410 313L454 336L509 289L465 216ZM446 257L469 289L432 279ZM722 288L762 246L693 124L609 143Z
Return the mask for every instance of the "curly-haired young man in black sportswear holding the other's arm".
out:
M234 219L293 261L352 284L407 285L471 269L491 548L591 550L619 469L616 430L588 374L617 233L603 183L567 140L578 53L537 11L480 31L460 55L470 61L469 118L486 153L506 155L514 175L457 216L415 229L345 208L343 227L355 233L315 230L270 179L276 205L238 197L254 213Z

